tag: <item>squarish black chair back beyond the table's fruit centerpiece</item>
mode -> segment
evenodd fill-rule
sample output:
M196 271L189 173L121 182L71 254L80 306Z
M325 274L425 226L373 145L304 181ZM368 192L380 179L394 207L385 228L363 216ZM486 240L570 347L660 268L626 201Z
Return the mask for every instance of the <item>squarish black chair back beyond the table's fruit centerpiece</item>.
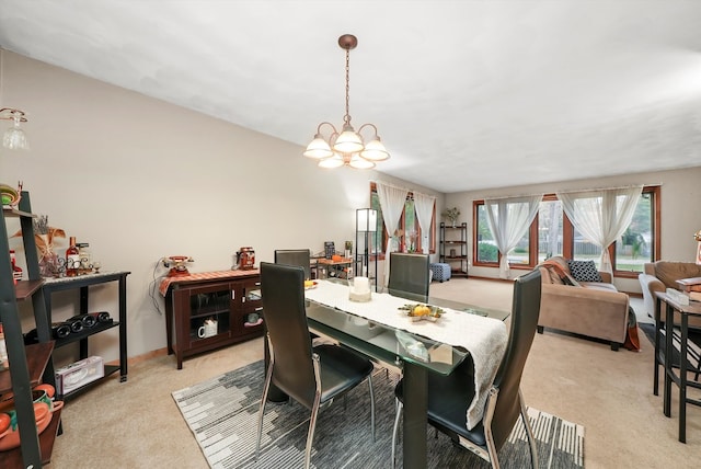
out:
M430 283L428 254L390 253L390 295L426 301ZM406 294L410 294L409 296ZM422 299L423 298L423 299Z

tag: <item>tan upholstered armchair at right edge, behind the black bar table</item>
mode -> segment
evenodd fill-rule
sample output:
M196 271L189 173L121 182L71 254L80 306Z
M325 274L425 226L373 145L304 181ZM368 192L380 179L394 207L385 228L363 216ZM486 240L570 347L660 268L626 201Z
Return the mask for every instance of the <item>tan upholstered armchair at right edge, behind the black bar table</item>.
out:
M693 262L673 261L657 261L645 264L643 273L637 278L643 289L643 301L647 316L655 318L655 291L678 288L676 281L691 277L701 277L701 265L697 265ZM660 319L664 322L664 314ZM675 322L679 322L678 314L675 317ZM689 327L701 329L701 318L690 314Z

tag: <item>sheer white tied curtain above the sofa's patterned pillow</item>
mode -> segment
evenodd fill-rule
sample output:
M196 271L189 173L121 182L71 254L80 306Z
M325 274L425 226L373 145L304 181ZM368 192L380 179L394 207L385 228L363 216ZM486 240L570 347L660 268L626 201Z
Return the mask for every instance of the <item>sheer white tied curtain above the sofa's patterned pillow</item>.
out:
M593 243L601 247L599 270L613 273L608 248L633 219L642 185L600 191L558 193L572 225Z

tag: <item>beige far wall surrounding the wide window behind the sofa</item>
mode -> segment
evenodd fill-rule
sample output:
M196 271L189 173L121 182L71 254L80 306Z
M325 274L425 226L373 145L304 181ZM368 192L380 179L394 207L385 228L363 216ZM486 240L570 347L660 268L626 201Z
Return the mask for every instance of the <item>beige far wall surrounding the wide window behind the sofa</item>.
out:
M535 168L533 171L537 171ZM693 233L701 229L701 167L676 171L625 174L596 180L581 180L552 184L536 184L490 191L462 192L446 195L446 206L458 206L464 220L469 220L470 273L498 278L498 268L472 266L472 203L485 197L549 194L598 187L616 187L631 184L662 184L662 247L659 259L693 262L697 243ZM469 214L469 215L467 215ZM467 218L467 217L469 218ZM525 271L512 270L512 276ZM636 278L616 278L616 286L623 291L641 293Z

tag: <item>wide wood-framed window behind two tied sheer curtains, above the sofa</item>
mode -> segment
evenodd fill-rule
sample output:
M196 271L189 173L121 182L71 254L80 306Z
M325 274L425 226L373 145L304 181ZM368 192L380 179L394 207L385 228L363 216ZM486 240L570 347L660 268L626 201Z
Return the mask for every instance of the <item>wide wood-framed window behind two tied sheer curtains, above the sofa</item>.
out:
M636 277L643 264L654 262L659 252L659 186L643 187L628 230L609 248L613 274ZM473 203L474 265L497 266L501 254L490 231L484 201ZM535 245L530 240L538 240ZM599 262L601 248L574 228L554 194L543 196L529 232L509 252L509 265L532 268L552 255Z

